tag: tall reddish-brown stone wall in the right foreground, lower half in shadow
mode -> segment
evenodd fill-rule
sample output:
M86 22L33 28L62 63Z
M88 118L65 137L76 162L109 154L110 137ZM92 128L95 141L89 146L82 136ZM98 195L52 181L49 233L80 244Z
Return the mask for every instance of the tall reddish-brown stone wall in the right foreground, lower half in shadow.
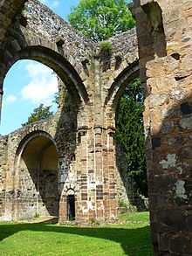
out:
M191 255L192 3L134 1L154 255Z

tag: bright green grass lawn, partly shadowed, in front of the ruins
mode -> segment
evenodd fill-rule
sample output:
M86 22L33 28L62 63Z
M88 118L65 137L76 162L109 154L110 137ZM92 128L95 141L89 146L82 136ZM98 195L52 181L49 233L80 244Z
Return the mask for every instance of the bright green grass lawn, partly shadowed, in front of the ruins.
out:
M149 225L144 224L78 227L0 223L0 255L150 256L153 253Z

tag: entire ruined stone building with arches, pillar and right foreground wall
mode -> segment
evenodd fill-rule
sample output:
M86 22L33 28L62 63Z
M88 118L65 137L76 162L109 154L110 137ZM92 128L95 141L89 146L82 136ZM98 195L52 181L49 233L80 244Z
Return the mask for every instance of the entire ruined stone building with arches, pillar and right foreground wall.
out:
M0 94L10 67L34 59L58 74L68 97L52 119L1 137L0 218L28 218L35 209L58 214L60 223L115 221L120 177L115 112L125 87L140 73L154 255L187 256L192 253L192 2L134 0L130 9L136 31L110 38L112 51L104 52L37 0L1 1Z

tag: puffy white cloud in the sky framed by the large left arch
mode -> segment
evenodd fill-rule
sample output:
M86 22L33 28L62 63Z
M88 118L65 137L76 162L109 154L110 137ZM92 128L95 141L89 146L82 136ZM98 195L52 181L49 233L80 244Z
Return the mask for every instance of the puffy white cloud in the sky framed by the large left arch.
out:
M58 79L52 70L40 63L30 63L25 66L30 81L21 91L23 100L33 104L51 105L54 93L58 92Z

